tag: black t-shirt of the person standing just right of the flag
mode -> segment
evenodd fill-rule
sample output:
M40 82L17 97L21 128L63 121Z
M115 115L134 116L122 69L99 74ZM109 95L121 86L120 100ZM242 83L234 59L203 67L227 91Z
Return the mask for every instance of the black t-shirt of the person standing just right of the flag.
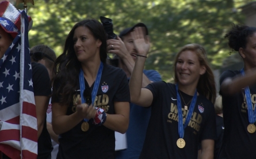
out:
M51 96L51 81L49 78L48 71L44 65L41 63L32 62L32 81L33 81L33 89L34 96ZM51 136L48 133L46 127L46 112L45 112L45 120L44 127L41 132L41 135L38 139L38 152L37 158L48 158L51 156L52 152L52 142Z

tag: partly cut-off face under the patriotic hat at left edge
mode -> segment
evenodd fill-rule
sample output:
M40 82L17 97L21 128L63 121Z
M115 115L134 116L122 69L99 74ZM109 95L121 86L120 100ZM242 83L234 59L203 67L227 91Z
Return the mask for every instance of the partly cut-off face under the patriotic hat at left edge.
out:
M3 54L5 54L5 51L12 44L12 41L13 39L11 38L11 36L6 33L5 30L3 30L0 26L0 59L3 57Z

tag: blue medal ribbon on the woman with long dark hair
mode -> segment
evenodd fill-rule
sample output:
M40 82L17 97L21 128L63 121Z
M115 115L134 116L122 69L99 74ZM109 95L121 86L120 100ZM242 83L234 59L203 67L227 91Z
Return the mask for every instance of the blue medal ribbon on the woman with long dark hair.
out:
M101 62L100 68L98 69L96 80L94 82L93 92L91 93L91 104L92 105L94 105L94 100L95 100L95 97L98 92L98 87L99 87L100 81L101 81L102 70L103 70L103 63ZM79 85L80 85L81 102L82 102L82 104L84 104L84 103L86 103L86 99L83 97L83 92L85 91L85 78L83 77L82 69L80 70L80 73L79 73ZM85 122L88 121L86 118L84 118L83 120Z

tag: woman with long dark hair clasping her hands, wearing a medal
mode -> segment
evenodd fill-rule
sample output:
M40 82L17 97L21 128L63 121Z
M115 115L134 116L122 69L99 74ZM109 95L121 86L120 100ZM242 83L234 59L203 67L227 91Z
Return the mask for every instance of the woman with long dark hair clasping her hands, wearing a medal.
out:
M57 158L114 158L114 131L129 122L129 87L123 70L106 64L106 33L100 22L74 25L56 59L52 126Z

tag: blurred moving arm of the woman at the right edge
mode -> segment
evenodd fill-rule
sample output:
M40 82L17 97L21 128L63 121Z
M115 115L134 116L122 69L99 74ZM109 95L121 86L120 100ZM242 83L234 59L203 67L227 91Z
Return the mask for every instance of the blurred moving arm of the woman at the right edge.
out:
M220 85L221 93L224 95L238 93L246 86L256 83L256 70L246 71L246 75L239 75L235 78L226 78Z

